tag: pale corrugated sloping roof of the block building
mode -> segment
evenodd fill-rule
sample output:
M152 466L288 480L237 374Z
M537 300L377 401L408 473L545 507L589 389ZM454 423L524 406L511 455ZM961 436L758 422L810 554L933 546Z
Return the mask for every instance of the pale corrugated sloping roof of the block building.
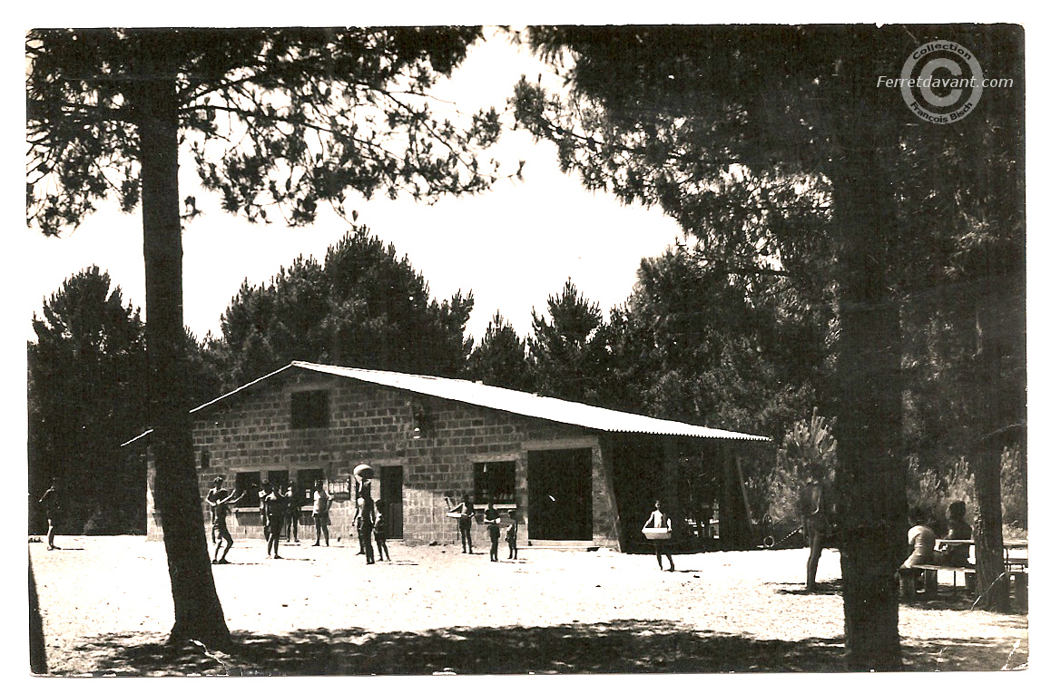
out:
M441 378L438 376L419 376L415 374L399 374L389 371L371 371L367 369L351 369L349 366L331 366L328 364L315 364L309 361L293 361L288 366L284 366L256 379L251 383L242 385L235 391L207 402L191 412L199 412L221 400L224 400L235 393L251 387L260 381L270 378L288 369L304 369L322 374L330 374L343 378L353 378L367 383L385 385L387 387L400 388L420 395L429 395L446 400L466 402L480 407L500 409L526 417L544 419L562 424L573 424L590 429L601 432L623 432L633 434L664 434L669 436L691 436L703 439L734 439L738 441L769 441L764 436L751 434L741 434L726 429L716 429L707 426L697 426L684 422L675 422L666 419L656 419L643 415L633 415L631 413L606 409L594 405L585 405L558 398L547 398L501 388L495 385L486 385L475 381L467 381L455 378Z

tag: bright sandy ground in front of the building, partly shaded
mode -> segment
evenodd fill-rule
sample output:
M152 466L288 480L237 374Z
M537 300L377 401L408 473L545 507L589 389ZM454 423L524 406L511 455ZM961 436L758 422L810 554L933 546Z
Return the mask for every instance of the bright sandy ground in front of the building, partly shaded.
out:
M213 567L242 645L225 654L160 646L173 622L162 543L59 544L29 543L53 674L842 669L833 550L820 565L822 590L806 593L804 550L682 555L661 572L652 555L609 550L522 548L509 562L501 545L494 564L477 548L390 542L393 562L367 566L346 540L283 546L280 561L262 540L238 541L233 563ZM942 598L900 610L906 666L1027 667L1027 615L970 611L943 575Z

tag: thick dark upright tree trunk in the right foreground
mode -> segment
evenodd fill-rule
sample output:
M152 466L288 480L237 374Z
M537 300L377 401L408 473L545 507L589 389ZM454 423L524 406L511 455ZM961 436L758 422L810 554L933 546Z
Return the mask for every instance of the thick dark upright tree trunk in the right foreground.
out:
M861 48L859 48L861 52ZM847 667L902 667L897 570L907 556L902 458L902 338L893 294L894 201L881 171L895 138L884 135L875 77L846 66L850 94L832 169L840 236L837 440ZM854 110L857 109L857 110Z

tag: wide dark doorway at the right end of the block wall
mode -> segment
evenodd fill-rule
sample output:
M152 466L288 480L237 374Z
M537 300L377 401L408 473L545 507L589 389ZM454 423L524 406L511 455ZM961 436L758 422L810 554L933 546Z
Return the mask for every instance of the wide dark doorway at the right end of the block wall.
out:
M529 451L529 537L592 539L591 448Z

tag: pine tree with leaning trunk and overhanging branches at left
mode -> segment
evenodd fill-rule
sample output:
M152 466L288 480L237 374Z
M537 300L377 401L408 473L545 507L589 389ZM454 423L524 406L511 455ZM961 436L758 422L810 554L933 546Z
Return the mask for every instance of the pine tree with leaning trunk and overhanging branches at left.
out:
M45 234L102 198L142 205L150 446L176 622L229 643L201 517L184 377L181 147L222 208L312 222L347 195L433 201L487 189L495 110L460 126L427 93L477 27L35 29L26 37L27 216ZM188 232L189 233L189 232Z

